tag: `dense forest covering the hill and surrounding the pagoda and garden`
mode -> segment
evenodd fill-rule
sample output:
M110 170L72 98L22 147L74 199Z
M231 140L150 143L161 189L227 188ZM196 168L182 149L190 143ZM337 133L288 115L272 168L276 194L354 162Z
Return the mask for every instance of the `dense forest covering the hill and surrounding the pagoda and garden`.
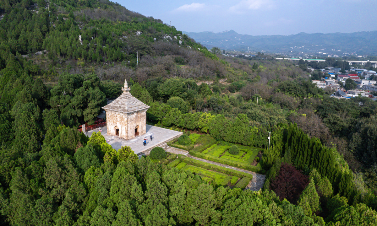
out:
M106 0L1 0L0 14L3 225L377 224L370 98L330 98L305 62L225 57ZM263 188L209 184L79 133L124 79L149 124L263 148Z

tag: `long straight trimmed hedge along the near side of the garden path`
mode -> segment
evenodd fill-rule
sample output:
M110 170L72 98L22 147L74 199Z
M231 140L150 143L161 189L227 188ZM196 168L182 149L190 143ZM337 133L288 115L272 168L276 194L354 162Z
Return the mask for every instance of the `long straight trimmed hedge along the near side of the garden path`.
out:
M206 169L206 170L213 170L213 171L216 171L216 172L219 172L219 173L224 173L224 174L239 177L239 178L242 178L242 177L253 178L253 175L251 175L251 174L244 173L244 172L241 172L241 171L238 171L238 170L225 168L225 167L218 166L218 165L213 165L213 164L207 163L207 162L202 162L200 160L196 160L196 159L186 157L182 154L179 154L178 158L181 159L182 162L187 163L188 165L198 166L198 167L201 167L201 168Z

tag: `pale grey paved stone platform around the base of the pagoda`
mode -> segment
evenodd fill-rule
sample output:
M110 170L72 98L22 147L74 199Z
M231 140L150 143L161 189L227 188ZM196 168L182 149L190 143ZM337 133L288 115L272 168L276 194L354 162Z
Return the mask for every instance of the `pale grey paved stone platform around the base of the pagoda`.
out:
M86 135L90 137L92 136L93 132L98 133L99 130L100 129L91 130L87 132ZM106 126L102 127L101 130L101 134L105 137L107 143L110 144L115 150L118 150L122 146L129 146L138 156L149 155L152 148L164 146L166 142L169 142L170 140L173 140L183 134L179 131L147 125L146 134L137 136L135 139L125 140L118 136L107 135ZM150 135L153 137L152 141L150 140ZM147 146L143 145L144 138L148 139Z

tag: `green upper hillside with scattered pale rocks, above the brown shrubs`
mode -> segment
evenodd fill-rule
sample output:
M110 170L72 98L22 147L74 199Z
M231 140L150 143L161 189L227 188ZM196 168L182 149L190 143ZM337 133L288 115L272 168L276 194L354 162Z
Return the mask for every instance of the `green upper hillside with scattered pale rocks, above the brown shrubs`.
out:
M61 0L52 1L48 6L43 0L34 4L30 1L2 2L0 57L4 64L0 68L9 61L9 53L25 67L21 58L27 60L42 52L40 61L46 64L44 70L38 66L29 67L36 74L44 74L48 70L47 64L52 69L51 63L62 66L64 61L80 58L85 63L97 65L126 61L133 67L140 56L155 55L152 43L161 40L184 48L201 49L211 55L174 27L131 12L118 3ZM46 60L51 62L46 63Z

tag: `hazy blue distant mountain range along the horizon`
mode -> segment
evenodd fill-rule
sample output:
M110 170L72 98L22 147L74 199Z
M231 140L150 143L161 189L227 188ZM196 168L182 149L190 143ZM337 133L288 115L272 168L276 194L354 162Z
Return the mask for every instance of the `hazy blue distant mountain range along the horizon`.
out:
M377 31L258 36L241 35L233 30L183 33L207 48L216 46L226 50L247 51L249 47L250 51L264 50L288 55L377 55Z

